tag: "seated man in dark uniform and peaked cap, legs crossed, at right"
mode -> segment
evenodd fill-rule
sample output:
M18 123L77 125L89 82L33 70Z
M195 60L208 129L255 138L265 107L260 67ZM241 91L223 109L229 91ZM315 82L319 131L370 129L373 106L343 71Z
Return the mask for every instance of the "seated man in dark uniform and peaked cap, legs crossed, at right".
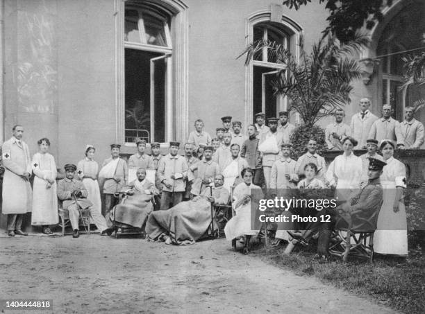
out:
M356 195L351 197L347 202L344 202L340 207L336 209L323 209L317 211L317 223L311 223L306 230L301 233L288 232L295 242L301 241L304 245L308 243L310 236L321 229L332 229L337 227L338 229L348 229L356 226L356 229L360 226L361 220L370 220L374 213L379 210L381 201L383 200L383 189L379 177L382 175L383 167L386 165L385 162L369 158L369 171L367 173L369 182L365 188L361 189ZM320 216L326 217L329 215L331 218L330 223L322 223ZM338 225L335 226L335 223ZM327 243L329 241L329 234L326 238L319 238L319 255L327 255ZM326 245L323 245L326 243ZM290 243L285 250L286 254L292 251L294 242ZM325 249L324 249L325 247Z

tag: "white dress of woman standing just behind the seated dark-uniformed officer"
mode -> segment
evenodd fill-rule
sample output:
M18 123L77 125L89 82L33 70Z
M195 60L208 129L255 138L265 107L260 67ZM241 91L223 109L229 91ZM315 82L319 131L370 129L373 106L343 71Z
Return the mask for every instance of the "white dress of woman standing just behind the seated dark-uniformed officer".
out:
M348 200L353 189L360 189L362 172L362 159L351 152L348 157L335 157L326 171L325 178L331 185L336 184L335 198Z

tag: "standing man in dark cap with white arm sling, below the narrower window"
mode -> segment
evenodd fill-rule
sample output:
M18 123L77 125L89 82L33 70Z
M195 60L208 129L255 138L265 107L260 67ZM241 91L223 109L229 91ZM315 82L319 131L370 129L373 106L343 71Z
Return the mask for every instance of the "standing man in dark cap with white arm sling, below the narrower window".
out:
M283 140L282 133L277 132L278 119L269 118L267 119L267 124L269 125L269 131L263 133L263 136L260 138L258 150L262 153L263 173L267 189L269 189L270 172L272 171L274 162L276 162Z

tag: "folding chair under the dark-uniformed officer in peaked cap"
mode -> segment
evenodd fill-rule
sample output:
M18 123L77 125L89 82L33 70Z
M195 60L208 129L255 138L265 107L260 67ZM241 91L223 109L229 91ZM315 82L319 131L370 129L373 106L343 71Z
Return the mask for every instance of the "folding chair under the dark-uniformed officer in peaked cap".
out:
M374 233L382 203L383 200L381 200L378 209L367 219L357 217L360 211L351 212L351 222L348 227L341 227L346 220L341 216L338 217L335 230L331 234L329 253L341 257L344 262L347 261L348 256L353 256L369 259L372 263L374 259ZM344 232L347 232L347 234L344 235Z

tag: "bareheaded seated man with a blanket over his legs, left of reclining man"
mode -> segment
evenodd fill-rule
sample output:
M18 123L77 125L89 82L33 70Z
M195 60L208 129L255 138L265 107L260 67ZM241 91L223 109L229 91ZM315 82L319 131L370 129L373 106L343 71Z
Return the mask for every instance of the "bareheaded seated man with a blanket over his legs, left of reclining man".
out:
M152 198L159 191L146 179L144 168L138 168L136 175L138 178L128 184L131 189L128 187L123 189L128 196L111 211L110 219L115 228L135 227L144 231L149 213L153 211Z

